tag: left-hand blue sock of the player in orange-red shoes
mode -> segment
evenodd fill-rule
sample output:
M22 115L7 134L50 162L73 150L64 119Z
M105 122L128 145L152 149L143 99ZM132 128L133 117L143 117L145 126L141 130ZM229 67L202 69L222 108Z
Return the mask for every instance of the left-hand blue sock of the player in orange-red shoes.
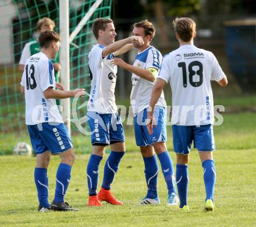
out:
M95 196L97 194L97 186L99 180L99 163L101 162L102 157L91 154L91 157L87 165L87 182L89 196Z

